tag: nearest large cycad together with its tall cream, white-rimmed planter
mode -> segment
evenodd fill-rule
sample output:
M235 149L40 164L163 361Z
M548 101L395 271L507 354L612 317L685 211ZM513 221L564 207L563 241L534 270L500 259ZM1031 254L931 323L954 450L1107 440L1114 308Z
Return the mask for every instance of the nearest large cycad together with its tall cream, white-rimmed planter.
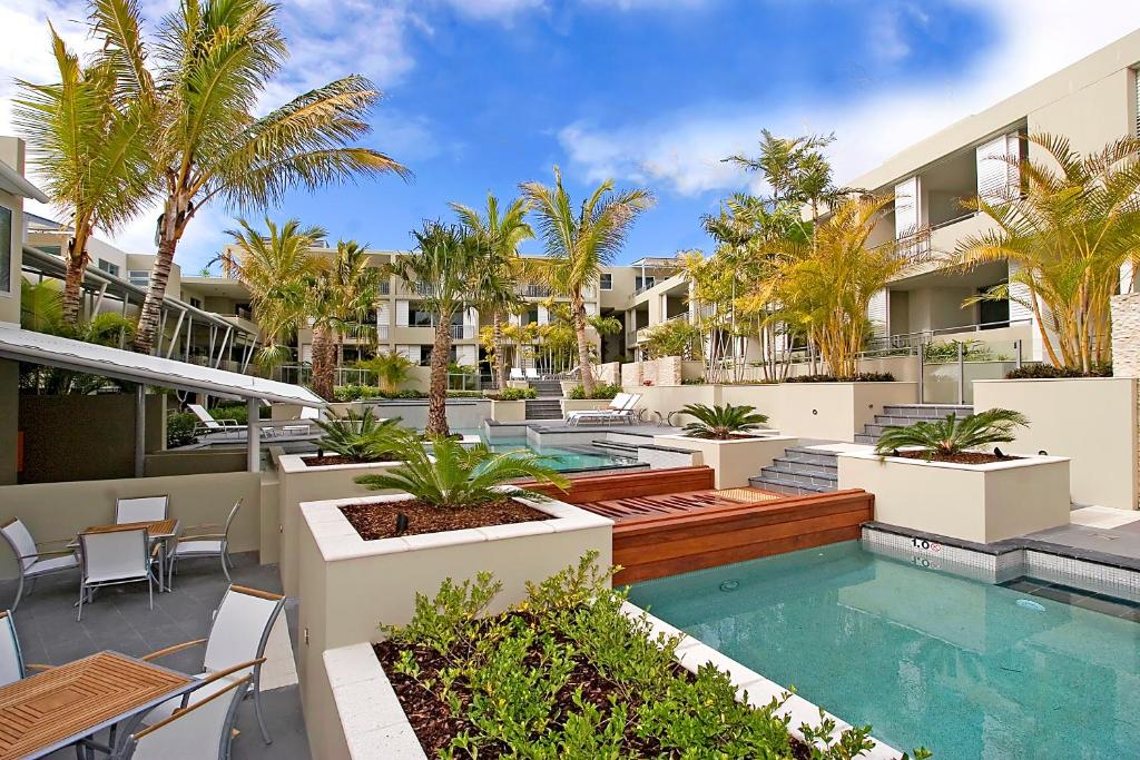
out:
M319 668L327 648L373 639L377 620L407 623L416 595L433 593L448 578L494 572L510 605L524 598L528 582L587 551L610 564L610 520L511 485L519 479L567 485L536 455L465 449L446 439L423 442L404 431L392 432L391 444L404 463L357 481L399 493L301 505L304 668ZM320 681L306 676L302 684Z

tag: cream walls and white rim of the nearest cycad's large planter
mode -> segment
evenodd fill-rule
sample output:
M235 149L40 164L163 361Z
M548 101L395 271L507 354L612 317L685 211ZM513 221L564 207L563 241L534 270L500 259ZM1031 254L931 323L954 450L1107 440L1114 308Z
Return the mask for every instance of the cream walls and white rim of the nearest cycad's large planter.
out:
M323 695L327 694L321 654L377 640L380 623L407 623L417 593L434 595L448 578L462 580L489 571L503 583L489 610L494 614L523 600L527 581L545 580L587 551L597 551L598 566L612 564L613 522L561 501L522 499L553 520L374 541L360 538L340 510L349 504L406 498L369 496L300 506L298 598L306 646L298 654L307 716L320 716ZM310 729L310 742L315 742L311 737ZM314 757L329 755L315 752Z

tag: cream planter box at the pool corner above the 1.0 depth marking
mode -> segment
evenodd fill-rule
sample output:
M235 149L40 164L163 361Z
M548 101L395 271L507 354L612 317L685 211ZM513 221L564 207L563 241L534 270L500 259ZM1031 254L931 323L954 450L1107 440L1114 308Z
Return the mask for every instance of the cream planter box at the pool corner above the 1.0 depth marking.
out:
M839 455L839 488L874 495L874 518L976 544L1069 524L1069 460L959 465Z

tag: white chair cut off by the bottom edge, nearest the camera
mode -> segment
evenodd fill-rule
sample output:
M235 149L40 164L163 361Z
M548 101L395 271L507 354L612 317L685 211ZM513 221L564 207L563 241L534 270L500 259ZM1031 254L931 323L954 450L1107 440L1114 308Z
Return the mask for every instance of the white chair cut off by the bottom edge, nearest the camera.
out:
M243 663L234 670L247 670ZM185 710L168 716L127 737L113 760L223 760L229 758L237 705L250 676L214 673L190 693L207 692Z

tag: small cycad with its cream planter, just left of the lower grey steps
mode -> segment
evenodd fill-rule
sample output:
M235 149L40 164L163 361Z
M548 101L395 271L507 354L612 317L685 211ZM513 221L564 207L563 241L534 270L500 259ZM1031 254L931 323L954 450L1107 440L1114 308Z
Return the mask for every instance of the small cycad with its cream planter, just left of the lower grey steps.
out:
M700 451L703 463L716 473L714 482L718 489L748 485L749 477L798 442L764 428L767 415L749 404L690 403L682 411L692 422L679 434L654 435L653 442Z

